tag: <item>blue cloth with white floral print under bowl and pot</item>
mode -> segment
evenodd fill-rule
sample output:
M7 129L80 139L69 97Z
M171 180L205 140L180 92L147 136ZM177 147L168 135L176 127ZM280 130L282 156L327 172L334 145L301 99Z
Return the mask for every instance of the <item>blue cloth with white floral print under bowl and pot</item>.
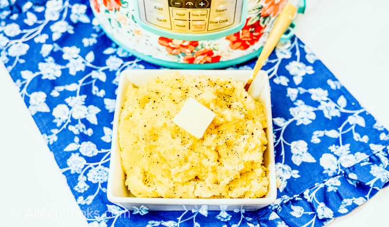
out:
M388 130L297 37L280 43L264 67L280 186L277 200L257 211L125 210L106 199L118 76L159 67L113 44L88 1L0 0L0 59L91 227L318 227L388 185Z

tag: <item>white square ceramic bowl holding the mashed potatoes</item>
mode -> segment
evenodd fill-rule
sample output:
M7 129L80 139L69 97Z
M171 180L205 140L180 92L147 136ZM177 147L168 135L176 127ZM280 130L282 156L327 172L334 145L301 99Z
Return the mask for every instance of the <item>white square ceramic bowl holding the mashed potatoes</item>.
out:
M167 70L124 70L121 73L117 89L116 107L114 113L111 158L109 164L107 198L114 204L133 210L134 207L146 206L149 210L192 210L206 205L208 210L258 210L275 201L277 197L273 124L270 103L270 86L268 75L260 71L252 82L248 92L255 100L265 105L268 127L265 128L267 148L264 152L264 165L269 178L268 193L263 198L137 198L124 185L125 175L118 144L119 115L124 104L126 87L131 83L137 87L145 86L147 81ZM189 75L215 75L246 83L252 70L174 70Z

